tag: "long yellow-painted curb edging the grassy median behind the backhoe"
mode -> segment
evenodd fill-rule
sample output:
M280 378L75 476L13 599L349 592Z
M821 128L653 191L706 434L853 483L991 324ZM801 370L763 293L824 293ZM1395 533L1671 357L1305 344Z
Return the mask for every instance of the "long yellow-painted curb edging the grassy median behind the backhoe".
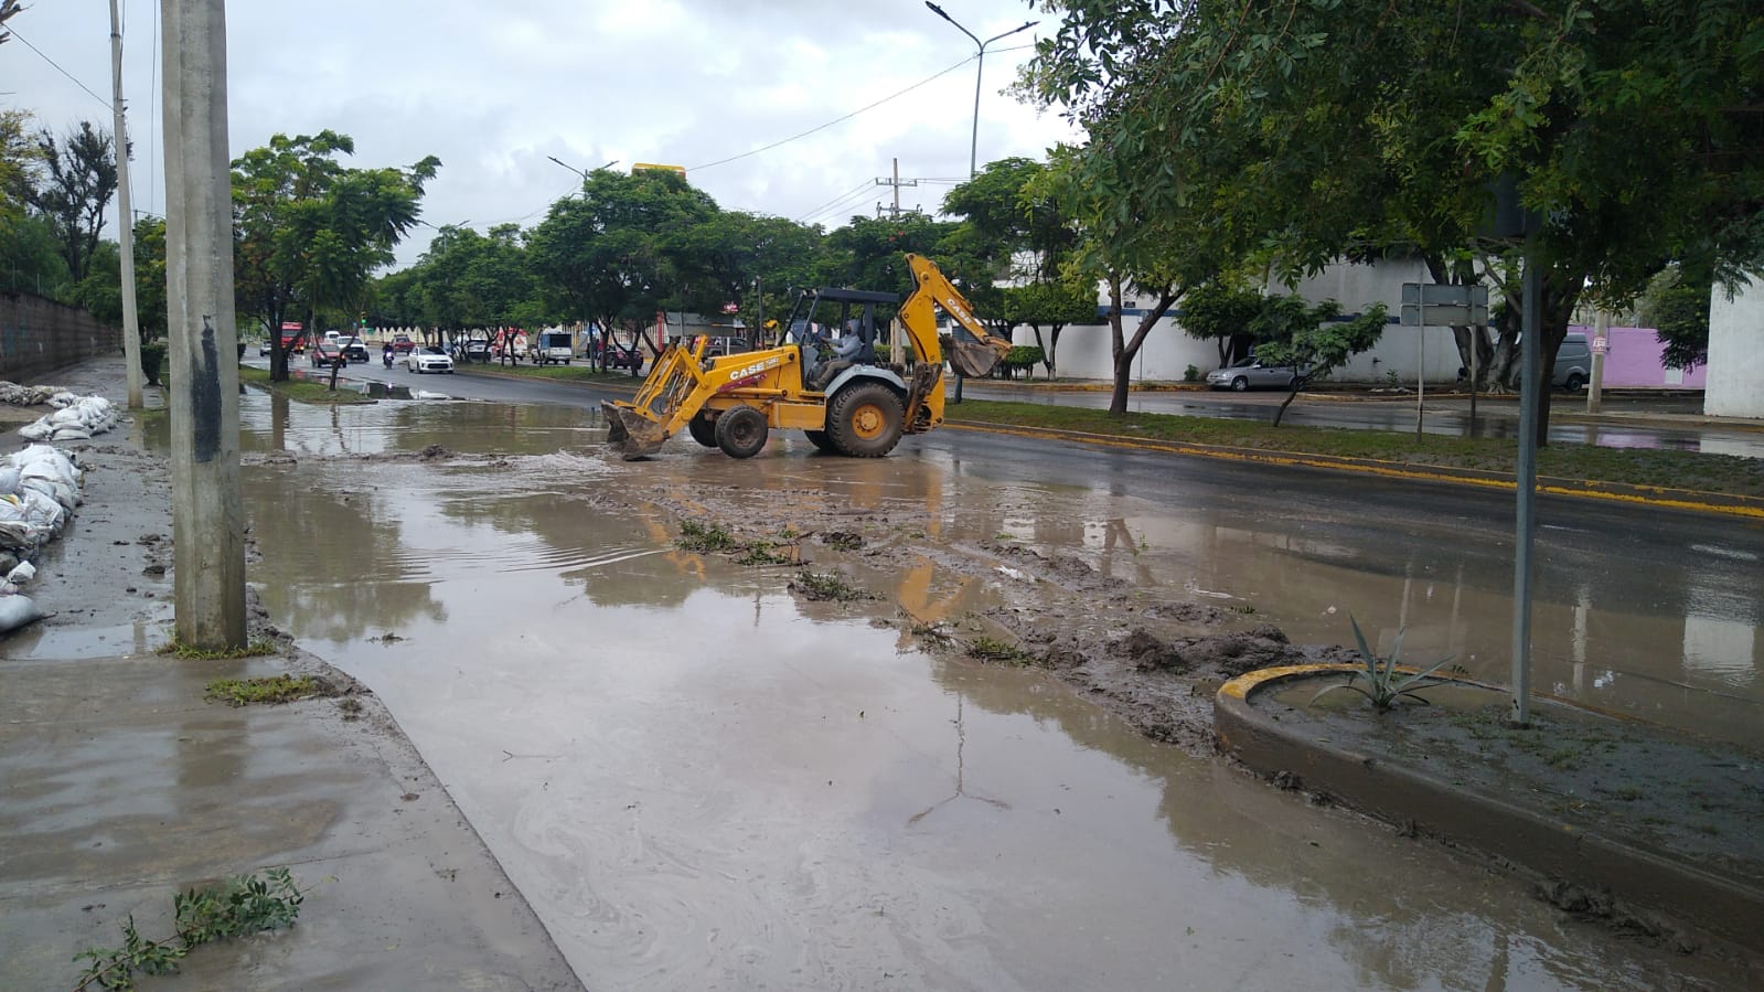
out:
M1519 480L1505 471L1485 471L1471 468L1445 468L1415 462L1387 462L1376 459L1353 459L1342 455L1316 455L1302 452L1274 452L1267 448L1233 448L1226 445L1191 445L1182 441L1150 441L1140 438L1118 438L1113 434L1090 434L1085 431L1057 431L1050 427L1016 427L1007 424L988 424L981 420L946 420L944 427L958 431L988 431L995 434L1016 434L1021 438L1057 438L1085 445L1104 445L1115 448L1134 448L1147 452L1166 452L1175 455L1196 455L1240 462L1286 464L1304 468L1323 468L1332 471L1357 471L1379 475L1385 478L1408 478L1416 482L1446 482L1455 485L1480 485L1515 492ZM1690 510L1697 514L1720 514L1764 521L1764 500L1755 496L1730 496L1725 492L1700 492L1695 489L1672 489L1665 485L1626 485L1618 482L1591 482L1575 478L1538 477L1538 492L1552 496L1573 496L1582 500L1603 500L1611 503L1632 503L1672 510Z

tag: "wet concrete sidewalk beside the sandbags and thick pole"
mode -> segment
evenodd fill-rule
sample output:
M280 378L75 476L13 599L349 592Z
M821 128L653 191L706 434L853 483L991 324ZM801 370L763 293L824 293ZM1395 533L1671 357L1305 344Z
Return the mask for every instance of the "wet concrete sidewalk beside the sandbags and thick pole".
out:
M53 380L123 399L120 358ZM198 948L143 988L580 988L372 694L291 644L153 653L171 512L143 417L71 445L85 505L28 590L55 616L0 639L0 988L72 988L74 953L120 948L131 916L168 937L173 893L275 865L305 891L293 928ZM205 701L210 680L284 671L337 695Z

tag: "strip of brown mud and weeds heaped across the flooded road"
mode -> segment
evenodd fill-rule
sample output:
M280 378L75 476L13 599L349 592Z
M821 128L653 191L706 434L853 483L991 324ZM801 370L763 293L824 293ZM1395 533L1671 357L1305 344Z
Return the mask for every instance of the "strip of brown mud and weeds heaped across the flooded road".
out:
M640 480L642 466L630 468ZM1217 752L1212 699L1224 681L1268 665L1357 658L1335 644L1291 644L1252 612L1203 598L1164 598L1166 590L1147 595L1078 556L1046 554L1009 535L937 540L919 507L841 510L826 496L820 489L780 492L762 482L686 492L656 482L628 487L616 501L647 503L700 528L720 528L737 544L725 554L737 560L755 547L789 545L801 567L845 572L875 598L893 600L891 620L921 650L1046 669L1143 734L1191 754ZM755 519L755 505L767 508L764 521ZM926 563L946 586L984 584L993 602L919 614L898 595L894 577ZM937 598L938 590L930 593Z

